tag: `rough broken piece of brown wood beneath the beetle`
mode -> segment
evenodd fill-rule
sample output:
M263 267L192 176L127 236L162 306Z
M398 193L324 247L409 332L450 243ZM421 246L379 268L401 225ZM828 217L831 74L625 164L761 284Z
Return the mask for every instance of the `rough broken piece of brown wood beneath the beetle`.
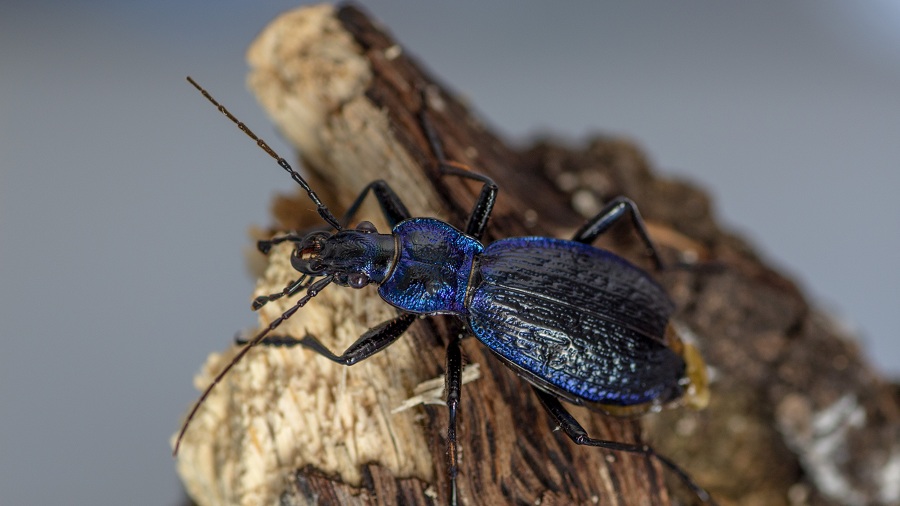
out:
M414 215L464 225L479 188L437 173L416 116L423 89L447 157L500 186L486 241L568 237L604 201L635 200L670 264L698 262L660 282L714 373L710 409L646 417L644 437L720 503L889 504L900 495L891 489L900 482L900 410L889 386L790 281L720 230L707 197L655 176L633 145L598 138L514 150L354 7L286 13L248 59L251 88L337 215L385 179ZM321 224L305 193L277 199L274 214L273 230ZM358 216L385 230L372 219L377 206ZM649 267L632 234L610 235L602 246ZM270 255L254 296L296 276L289 254ZM260 328L290 304L266 306ZM373 289L331 286L279 333L310 332L340 352L394 314ZM458 332L452 318L422 320L349 368L299 348L251 351L185 437L178 467L189 493L199 504L446 504L446 408L393 411L442 374ZM197 387L235 352L213 355ZM656 462L573 445L488 350L468 339L463 352L480 377L462 390L462 504L664 505L667 481L690 498ZM638 421L572 411L593 437L642 438Z

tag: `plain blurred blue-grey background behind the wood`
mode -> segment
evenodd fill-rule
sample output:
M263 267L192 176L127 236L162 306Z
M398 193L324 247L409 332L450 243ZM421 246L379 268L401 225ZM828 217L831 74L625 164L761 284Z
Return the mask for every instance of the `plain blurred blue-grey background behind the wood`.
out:
M366 5L512 139L610 132L900 372L900 7ZM253 324L242 248L292 183L243 54L293 2L0 5L0 502L174 504L168 437Z

